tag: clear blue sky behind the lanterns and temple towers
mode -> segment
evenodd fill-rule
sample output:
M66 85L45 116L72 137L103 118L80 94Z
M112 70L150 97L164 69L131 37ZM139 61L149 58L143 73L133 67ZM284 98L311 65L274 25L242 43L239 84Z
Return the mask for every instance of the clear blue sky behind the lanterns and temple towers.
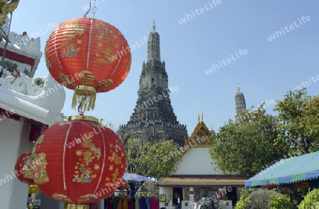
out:
M247 108L257 107L266 100L282 100L287 91L301 85L308 77L311 80L311 76L315 81L311 81L311 85L308 82L308 92L318 95L318 0L221 0L216 6L208 0L99 2L95 18L116 26L130 45L148 36L152 21L155 21L169 86L179 87L179 91L171 95L172 106L189 134L202 111L206 125L215 130L228 119L234 119L237 82L240 82ZM82 17L83 7L88 3L88 0L21 1L13 13L11 31L31 34L42 29L45 33L41 32L41 50L44 51L50 34L45 29L47 24L58 25ZM92 12L88 16L92 17ZM303 23L302 16L310 16L310 21ZM186 22L180 24L181 18L186 18ZM288 27L286 30L285 26ZM278 34L279 37L269 41L275 31L281 31L282 36ZM230 63L225 61L226 65L221 63L223 68L209 75L204 73L212 65L218 65L218 60L222 62L231 55L236 58L235 51L238 53L240 49L247 50L247 54L242 57L238 54L240 58L228 60ZM96 108L86 114L116 126L128 122L138 98L138 82L142 61L147 59L147 45L132 50L132 56L127 79L115 90L99 94ZM44 77L47 73L42 58L35 77ZM71 109L73 91L66 92L62 112L67 116L77 114ZM272 114L274 105L266 107Z

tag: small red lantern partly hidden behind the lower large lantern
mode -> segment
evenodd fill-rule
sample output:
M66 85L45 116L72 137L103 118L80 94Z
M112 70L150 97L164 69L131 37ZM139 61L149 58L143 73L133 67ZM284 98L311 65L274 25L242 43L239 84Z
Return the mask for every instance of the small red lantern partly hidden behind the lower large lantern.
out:
M23 183L35 184L31 175L30 168L33 166L31 161L32 151L25 152L16 161L16 166L14 167L16 171L16 177Z

